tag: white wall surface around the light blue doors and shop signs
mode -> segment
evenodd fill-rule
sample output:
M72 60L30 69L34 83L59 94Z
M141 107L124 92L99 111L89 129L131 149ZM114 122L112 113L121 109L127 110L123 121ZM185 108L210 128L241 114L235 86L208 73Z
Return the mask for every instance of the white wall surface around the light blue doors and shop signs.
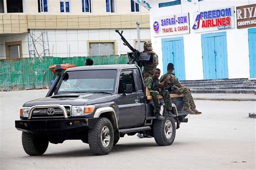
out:
M201 50L201 34L211 33L202 32L194 33L192 26L194 24L194 12L223 8L228 6L242 6L255 4L255 0L239 1L239 0L206 0L198 2L198 0L181 0L181 5L167 6L158 8L159 2L166 1L147 1L151 5L150 9L150 26L151 40L154 51L159 55L159 68L163 69L163 58L161 50L161 38L184 37L185 52L185 70L186 80L203 79L203 60ZM181 34L177 36L154 37L153 36L153 18L167 16L177 13L190 12L190 34ZM236 18L236 17L235 17ZM236 24L236 22L235 22ZM227 33L227 60L228 60L228 78L250 77L249 52L248 52L248 29L235 29L214 31Z

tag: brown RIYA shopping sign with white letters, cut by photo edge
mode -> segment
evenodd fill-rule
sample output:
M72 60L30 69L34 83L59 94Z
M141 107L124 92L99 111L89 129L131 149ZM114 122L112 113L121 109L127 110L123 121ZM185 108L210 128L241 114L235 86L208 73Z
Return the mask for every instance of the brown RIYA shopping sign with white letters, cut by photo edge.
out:
M256 27L256 4L237 6L237 28Z

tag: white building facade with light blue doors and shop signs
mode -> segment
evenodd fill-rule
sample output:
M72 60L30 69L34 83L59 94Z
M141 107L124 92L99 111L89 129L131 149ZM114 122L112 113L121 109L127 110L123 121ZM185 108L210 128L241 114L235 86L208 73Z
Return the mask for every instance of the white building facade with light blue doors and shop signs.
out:
M180 80L256 77L256 1L147 0L151 40Z

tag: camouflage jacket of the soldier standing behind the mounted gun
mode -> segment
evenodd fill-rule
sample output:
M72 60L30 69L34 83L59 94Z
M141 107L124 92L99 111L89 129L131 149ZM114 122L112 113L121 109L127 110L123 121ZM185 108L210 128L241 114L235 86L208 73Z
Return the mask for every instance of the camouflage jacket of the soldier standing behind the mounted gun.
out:
M153 55L152 56L153 61L149 63L144 64L144 70L143 70L143 77L144 79L146 77L152 77L154 76L154 70L156 70L157 65L158 65L158 55Z

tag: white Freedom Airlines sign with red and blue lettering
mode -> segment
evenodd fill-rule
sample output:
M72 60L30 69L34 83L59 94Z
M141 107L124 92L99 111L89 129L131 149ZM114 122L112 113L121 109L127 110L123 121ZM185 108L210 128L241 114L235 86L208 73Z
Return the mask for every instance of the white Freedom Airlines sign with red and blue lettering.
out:
M234 29L233 7L194 13L194 32Z

